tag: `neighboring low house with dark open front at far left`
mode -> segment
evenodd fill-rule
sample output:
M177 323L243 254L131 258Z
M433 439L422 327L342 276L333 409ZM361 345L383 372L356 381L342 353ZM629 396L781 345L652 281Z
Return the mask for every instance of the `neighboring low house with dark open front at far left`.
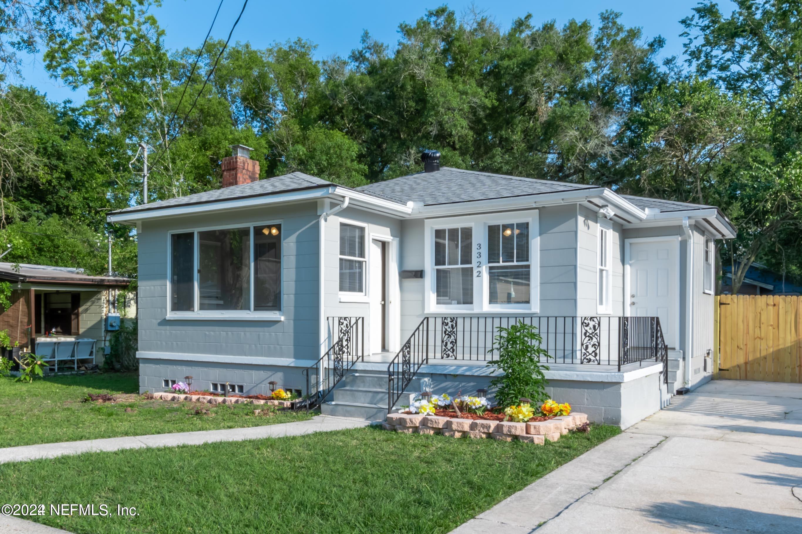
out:
M111 313L112 323L119 325L117 291L128 287L130 279L85 275L70 267L0 263L0 280L12 288L11 307L0 314L0 330L8 332L12 344L24 352L33 349L54 371L103 363L107 317Z

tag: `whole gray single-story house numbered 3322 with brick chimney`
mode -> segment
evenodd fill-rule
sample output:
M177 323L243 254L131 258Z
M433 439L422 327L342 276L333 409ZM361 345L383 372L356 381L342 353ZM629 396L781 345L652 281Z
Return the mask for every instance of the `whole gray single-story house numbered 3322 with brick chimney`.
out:
M594 421L629 426L711 377L714 243L735 234L714 206L440 168L439 153L356 190L258 180L233 149L221 190L108 216L136 225L141 391L275 381L379 418L404 392L486 387L492 336L517 318L541 332L549 393Z

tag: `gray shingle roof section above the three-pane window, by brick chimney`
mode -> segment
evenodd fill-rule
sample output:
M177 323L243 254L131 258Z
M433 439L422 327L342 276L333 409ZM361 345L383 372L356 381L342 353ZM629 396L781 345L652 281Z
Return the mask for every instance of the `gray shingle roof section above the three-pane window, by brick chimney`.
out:
M304 173L290 173L282 176L265 178L265 180L252 181L249 184L232 185L203 193L190 194L186 197L168 198L160 202L151 202L141 206L133 206L112 213L131 213L141 210L156 210L172 206L185 206L188 204L201 204L236 198L257 197L261 195L286 193L288 191L305 190L314 187L334 185L330 181Z

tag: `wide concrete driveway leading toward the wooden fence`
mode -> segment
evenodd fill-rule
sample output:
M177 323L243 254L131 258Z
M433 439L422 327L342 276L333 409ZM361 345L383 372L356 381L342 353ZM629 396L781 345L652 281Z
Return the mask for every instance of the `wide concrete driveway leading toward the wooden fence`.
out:
M799 534L802 385L712 381L674 397L454 532L533 531Z

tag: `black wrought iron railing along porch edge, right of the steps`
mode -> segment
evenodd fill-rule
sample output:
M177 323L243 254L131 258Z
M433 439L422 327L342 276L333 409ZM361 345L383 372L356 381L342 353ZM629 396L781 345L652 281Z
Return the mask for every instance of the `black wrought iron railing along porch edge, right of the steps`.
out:
M499 327L524 322L537 328L545 364L663 364L668 377L668 349L658 317L616 316L429 316L412 332L387 366L388 409L395 406L424 364L491 361Z

